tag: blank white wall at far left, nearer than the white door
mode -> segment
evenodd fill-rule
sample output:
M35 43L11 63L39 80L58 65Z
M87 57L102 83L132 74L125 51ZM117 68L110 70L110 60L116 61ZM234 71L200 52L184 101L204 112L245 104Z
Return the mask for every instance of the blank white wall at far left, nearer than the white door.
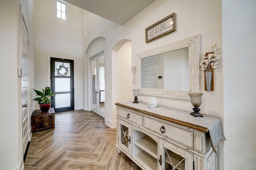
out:
M17 43L18 43L18 15L16 1L1 1L0 4L0 51L1 51L1 138L0 138L0 166L1 169L15 169L19 165L20 152L20 132L19 128L19 100L17 76ZM4 89L4 90L3 90ZM10 102L11 101L11 102ZM12 122L12 125L10 125ZM8 127L8 128L6 128ZM10 135L12 134L12 135ZM15 155L15 156L14 156Z

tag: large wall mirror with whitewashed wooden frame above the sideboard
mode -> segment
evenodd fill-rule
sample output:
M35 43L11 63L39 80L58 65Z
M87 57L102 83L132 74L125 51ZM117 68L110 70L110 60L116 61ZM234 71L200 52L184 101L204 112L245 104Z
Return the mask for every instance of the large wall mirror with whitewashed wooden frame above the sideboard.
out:
M140 94L190 100L200 92L200 35L138 53Z

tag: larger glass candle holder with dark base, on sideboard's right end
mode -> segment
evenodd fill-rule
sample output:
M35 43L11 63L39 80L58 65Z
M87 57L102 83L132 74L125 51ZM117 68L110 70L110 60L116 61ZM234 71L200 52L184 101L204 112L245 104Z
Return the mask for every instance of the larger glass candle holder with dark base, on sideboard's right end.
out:
M203 117L201 113L199 113L200 109L198 108L202 104L202 95L203 93L189 93L190 96L190 102L194 106L192 113L190 115L193 115L194 117Z

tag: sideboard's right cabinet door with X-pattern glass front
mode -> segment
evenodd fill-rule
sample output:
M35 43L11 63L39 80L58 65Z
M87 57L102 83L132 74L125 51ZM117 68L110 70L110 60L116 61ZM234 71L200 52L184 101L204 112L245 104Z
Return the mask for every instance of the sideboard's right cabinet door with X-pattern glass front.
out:
M193 154L161 139L159 154L160 170L193 170Z

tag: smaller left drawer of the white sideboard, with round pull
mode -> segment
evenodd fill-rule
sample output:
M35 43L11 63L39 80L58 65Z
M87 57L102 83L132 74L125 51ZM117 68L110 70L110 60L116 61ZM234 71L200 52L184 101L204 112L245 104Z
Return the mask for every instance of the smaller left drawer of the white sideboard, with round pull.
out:
M125 118L126 120L132 121L134 123L137 123L138 125L142 125L143 122L143 116L139 115L137 113L125 110L125 109L120 109L118 108L118 115L120 117Z

